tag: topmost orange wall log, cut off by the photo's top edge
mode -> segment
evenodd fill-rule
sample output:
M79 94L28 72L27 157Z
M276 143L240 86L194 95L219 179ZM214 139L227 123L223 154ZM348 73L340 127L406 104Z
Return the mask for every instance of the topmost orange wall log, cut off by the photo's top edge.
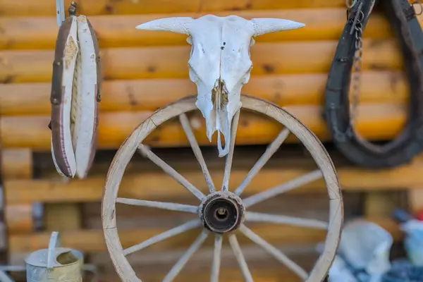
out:
M65 0L68 7L71 0ZM345 7L343 0L216 0L216 1L169 1L169 0L78 0L78 13L87 16L110 14L145 14L145 13L195 13L197 11L239 11L243 9L278 9L278 8L326 8ZM13 0L0 1L0 16L51 16L56 13L54 1L20 0L19 5Z

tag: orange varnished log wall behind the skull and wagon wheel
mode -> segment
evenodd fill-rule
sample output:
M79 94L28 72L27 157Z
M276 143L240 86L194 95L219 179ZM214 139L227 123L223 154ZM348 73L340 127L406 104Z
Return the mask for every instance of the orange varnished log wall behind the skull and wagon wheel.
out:
M92 262L104 266L102 274L110 278L106 281L119 281L109 267L109 259L105 259L108 255L99 216L105 173L113 155L99 152L90 176L85 180L63 181L57 176L49 156L50 130L47 128L51 62L58 30L55 4L52 0L19 2L18 5L16 1L0 0L1 174L11 261L21 262L21 255L47 247L49 232L57 230L63 235L63 245L91 254ZM69 2L65 1L66 6ZM345 24L344 0L79 0L78 4L79 13L90 18L97 33L104 66L99 149L116 150L152 111L180 97L195 94L195 85L188 79L186 63L190 47L185 35L135 30L135 26L154 18L198 17L207 13L217 16L235 14L245 18L288 18L307 25L300 30L257 37L257 43L251 49L252 77L243 90L246 94L285 106L321 140L330 141L321 117L321 104L327 72ZM423 16L419 17L423 20ZM357 118L357 130L371 140L391 139L400 133L405 123L408 87L401 58L387 20L375 13L364 32L362 89ZM200 145L209 145L202 116L193 114L189 118ZM265 145L274 139L280 128L281 125L263 116L243 113L237 145ZM252 180L247 193L265 190L313 168L311 159L307 159L298 144L295 145L297 140L290 137L287 142L293 143L289 145L293 149L282 150L274 157L274 163L265 166ZM152 133L146 143L162 148L186 147L188 140L180 125L171 121ZM243 180L261 153L260 148L247 148L240 147L240 153L235 153L232 186ZM208 150L207 161L212 162L210 170L215 183L219 183L223 178L222 160L216 157L214 150ZM178 149L180 154L168 149L159 149L158 152L194 185L206 189L189 150ZM417 158L399 168L367 171L345 164L336 152L331 151L331 156L340 159L336 166L346 195L345 214L365 216L400 240L402 234L388 215L392 207L403 202L399 200L403 195L401 191L410 191L412 209L423 207L423 192L420 190L423 180L419 177L423 171L422 161ZM367 192L364 204L363 192ZM190 200L177 183L140 157L130 163L119 195L150 200ZM268 203L263 209L280 212L283 207L283 212L305 217L311 214L323 219L329 207L325 200L324 183L316 181L274 200L273 204ZM34 224L32 204L36 202L45 204L42 231L36 230ZM295 207L296 212L293 212ZM121 205L118 208L124 247L135 245L185 219L155 212L154 216L164 222L158 224L159 220L154 219L149 210ZM314 263L310 245L324 238L320 231L305 232L292 226L264 225L255 230L266 240L281 245L306 268ZM147 276L151 276L148 281L161 281L161 274L171 267L171 262L157 266L159 262L158 259L154 261L154 257L164 257L163 254L172 252L177 254L195 235L180 235L175 240L152 247L147 254L133 255L131 262L140 271L140 277L144 278L142 273L148 272ZM244 239L240 242L247 247L247 260L254 261L252 272L257 274L256 281L277 281L274 279L282 275L286 277L284 281L298 281L286 269L272 264L271 259L257 255L259 250ZM198 267L183 272L180 281L186 281L187 277L198 277L201 281L207 279L209 261L204 257L211 252L207 249L210 242L206 245L196 259ZM172 252L165 252L169 247ZM231 262L231 252L227 246L224 250L227 255L223 257ZM153 265L157 271L150 271ZM269 271L258 271L263 267ZM221 276L225 278L223 281L242 281L235 269L235 264L228 263L228 269Z

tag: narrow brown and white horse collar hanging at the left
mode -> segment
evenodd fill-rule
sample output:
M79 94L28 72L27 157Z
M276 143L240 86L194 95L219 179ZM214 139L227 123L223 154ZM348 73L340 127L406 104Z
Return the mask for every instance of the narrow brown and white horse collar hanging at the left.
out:
M59 28L51 79L51 154L61 176L87 176L97 143L101 66L97 37L85 16L70 16Z

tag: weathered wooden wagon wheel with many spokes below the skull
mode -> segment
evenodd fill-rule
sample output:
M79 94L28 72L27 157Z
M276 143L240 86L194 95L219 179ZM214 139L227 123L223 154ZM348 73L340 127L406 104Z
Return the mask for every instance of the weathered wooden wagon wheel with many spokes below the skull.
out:
M196 97L186 97L169 104L162 109L154 112L152 116L147 118L141 125L134 130L134 132L125 140L121 148L116 153L114 160L111 163L109 172L106 176L106 185L104 188L104 197L102 202L102 223L106 245L111 255L112 262L118 275L123 281L141 281L137 278L135 271L130 266L128 260L125 258L126 255L142 250L145 247L158 243L167 238L171 238L174 235L178 235L185 231L193 228L202 227L202 233L197 239L190 245L188 250L182 257L176 262L175 266L169 271L163 281L173 281L183 266L188 262L188 259L194 254L194 252L202 245L208 235L214 233L214 255L212 259L212 274L211 281L219 281L219 269L221 262L221 247L223 234L228 233L228 240L235 253L235 257L238 260L241 272L244 276L245 281L251 282L252 276L250 270L245 262L243 252L240 249L238 240L232 231L238 230L243 233L247 238L250 238L254 243L262 247L271 256L277 259L282 264L285 264L289 269L295 272L303 281L307 282L321 282L326 277L329 268L333 262L333 258L336 254L338 247L339 238L341 235L341 227L343 223L343 200L341 196L341 189L339 187L338 178L333 163L329 157L329 154L324 149L318 138L300 121L294 116L289 114L287 111L282 109L275 104L271 104L262 99L249 97L243 95L241 101L243 103L243 109L250 111L256 111L271 118L274 118L279 123L285 125L285 128L278 134L276 139L267 147L266 152L259 158L259 161L251 168L250 172L247 173L245 180L238 186L238 188L229 188L229 177L231 172L231 164L233 159L233 148L235 143L236 129L238 126L238 120L240 111L235 114L233 118L232 126L232 137L231 137L231 149L226 156L225 171L223 174L223 184L221 189L216 189L212 178L209 174L207 166L202 157L200 147L195 140L192 133L188 118L185 113L193 111L195 106ZM157 157L156 154L151 152L148 147L142 145L142 141L145 137L152 133L152 131L161 125L165 121L171 118L179 117L180 123L185 130L188 137L192 150L195 157L200 162L204 178L209 187L209 195L204 195L200 190L197 190L191 183L188 182L183 176L177 173L171 166L168 166L163 160ZM293 133L298 139L305 145L308 151L312 154L314 161L319 166L319 169L312 171L303 176L290 180L288 183L283 183L271 188L264 192L259 192L256 195L240 198L240 194L245 190L250 180L259 172L260 168L266 164L266 161L276 152L278 147L281 146L286 137ZM130 159L133 157L135 152L140 150L142 154L148 159L153 161L157 166L162 168L178 183L183 185L184 188L192 192L195 197L200 200L198 206L188 204L175 204L169 202L154 202L146 200L135 200L125 199L118 197L118 188L125 171L125 167L128 165ZM280 195L288 190L299 188L306 183L312 182L319 178L324 178L326 182L327 191L330 199L330 213L329 223L324 221L317 221L314 219L300 219L292 216L279 216L275 214L262 214L257 212L248 212L248 207L254 204L267 200L276 195ZM198 214L199 218L188 221L176 228L172 228L164 233L156 235L148 240L145 240L138 245L123 249L121 242L118 237L118 230L116 228L116 202L124 204L134 204L144 207L156 207L159 209L169 209L180 212L190 212ZM324 246L324 252L314 264L312 271L307 274L307 271L302 269L301 266L289 259L283 252L279 251L273 245L267 243L263 238L259 237L256 233L251 231L244 222L267 222L267 223L280 223L280 224L292 224L295 226L303 226L309 228L323 228L327 229L326 242Z

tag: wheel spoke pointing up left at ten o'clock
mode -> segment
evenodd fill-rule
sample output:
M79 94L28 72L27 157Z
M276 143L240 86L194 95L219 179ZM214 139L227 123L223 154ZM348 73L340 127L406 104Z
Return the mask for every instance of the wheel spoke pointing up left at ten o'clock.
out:
M150 161L154 162L154 164L157 164L157 166L163 169L164 172L171 176L171 178L175 179L180 185L183 185L183 187L192 192L195 197L200 200L203 200L204 197L206 197L200 190L195 188L195 186L192 185L185 177L181 176L175 169L173 169L171 166L166 164L166 162L157 157L157 154L154 154L145 145L140 144L140 146L138 146L138 149L140 150L143 156L147 157Z

